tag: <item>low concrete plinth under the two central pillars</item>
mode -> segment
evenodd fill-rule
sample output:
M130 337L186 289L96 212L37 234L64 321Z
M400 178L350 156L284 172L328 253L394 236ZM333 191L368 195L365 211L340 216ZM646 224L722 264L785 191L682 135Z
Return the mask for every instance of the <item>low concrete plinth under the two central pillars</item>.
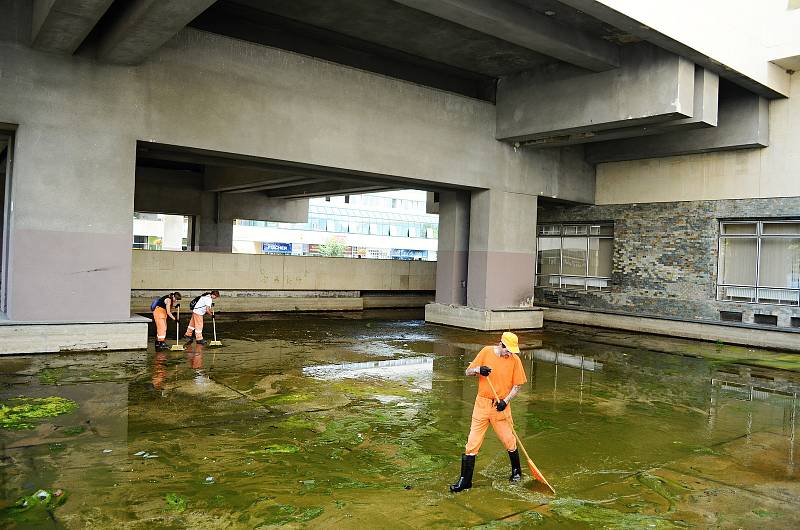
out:
M543 315L539 307L475 309L433 303L425 306L425 321L481 331L505 331L541 328Z

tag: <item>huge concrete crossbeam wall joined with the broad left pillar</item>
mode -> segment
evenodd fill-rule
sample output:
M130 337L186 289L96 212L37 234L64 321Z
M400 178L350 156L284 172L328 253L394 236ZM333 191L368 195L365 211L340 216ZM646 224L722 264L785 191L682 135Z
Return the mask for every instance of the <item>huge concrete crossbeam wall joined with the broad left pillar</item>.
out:
M0 22L0 122L19 125L11 319L128 316L137 140L594 197L581 151L497 142L491 104L191 29L138 67L58 57L13 31L18 4Z

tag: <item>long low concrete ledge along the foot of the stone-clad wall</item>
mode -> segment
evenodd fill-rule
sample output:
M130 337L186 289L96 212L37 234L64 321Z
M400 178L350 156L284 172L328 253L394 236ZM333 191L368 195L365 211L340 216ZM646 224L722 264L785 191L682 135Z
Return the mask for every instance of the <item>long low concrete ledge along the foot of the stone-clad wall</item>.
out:
M707 341L722 341L759 348L800 351L800 333L779 330L753 329L681 320L636 317L593 311L544 308L544 318L553 322L567 322L583 326L624 329L640 333L669 335Z

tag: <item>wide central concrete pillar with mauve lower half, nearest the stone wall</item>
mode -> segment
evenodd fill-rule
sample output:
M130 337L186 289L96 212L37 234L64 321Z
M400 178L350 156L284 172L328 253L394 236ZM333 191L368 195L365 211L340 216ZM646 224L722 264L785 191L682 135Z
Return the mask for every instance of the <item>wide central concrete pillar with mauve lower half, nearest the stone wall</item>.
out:
M467 279L469 307L518 307L520 302L533 296L536 199L536 195L497 190L472 192Z

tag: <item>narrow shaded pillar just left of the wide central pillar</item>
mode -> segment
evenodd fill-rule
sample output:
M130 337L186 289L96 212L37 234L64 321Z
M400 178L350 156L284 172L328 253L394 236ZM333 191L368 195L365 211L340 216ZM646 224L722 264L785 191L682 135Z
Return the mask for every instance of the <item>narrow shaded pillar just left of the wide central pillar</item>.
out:
M469 192L439 192L436 303L466 305L469 252Z

